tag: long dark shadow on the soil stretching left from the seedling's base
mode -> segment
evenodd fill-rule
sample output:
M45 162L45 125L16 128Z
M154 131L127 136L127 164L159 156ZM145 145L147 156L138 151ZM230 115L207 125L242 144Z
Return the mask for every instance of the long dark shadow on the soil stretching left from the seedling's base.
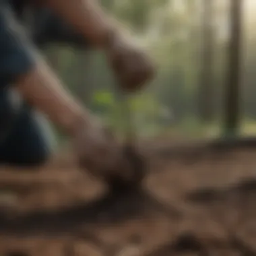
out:
M40 210L26 216L9 218L0 212L0 234L49 235L70 232L82 224L117 224L131 218L141 218L152 212L162 212L170 218L181 213L167 207L142 189L121 194L107 194L92 202L62 208L56 211Z

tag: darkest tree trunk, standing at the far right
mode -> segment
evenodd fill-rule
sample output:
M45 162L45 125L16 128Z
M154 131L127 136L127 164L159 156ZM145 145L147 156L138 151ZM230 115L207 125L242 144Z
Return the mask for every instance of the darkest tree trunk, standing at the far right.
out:
M224 134L235 136L239 125L239 85L241 78L241 16L243 0L230 0L230 42L224 96Z

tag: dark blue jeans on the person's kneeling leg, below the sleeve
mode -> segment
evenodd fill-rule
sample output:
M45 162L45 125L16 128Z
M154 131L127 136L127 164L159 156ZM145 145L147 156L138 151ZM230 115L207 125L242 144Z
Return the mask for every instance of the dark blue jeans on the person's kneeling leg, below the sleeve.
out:
M53 150L49 124L28 104L15 106L10 95L9 89L0 91L0 163L44 164Z

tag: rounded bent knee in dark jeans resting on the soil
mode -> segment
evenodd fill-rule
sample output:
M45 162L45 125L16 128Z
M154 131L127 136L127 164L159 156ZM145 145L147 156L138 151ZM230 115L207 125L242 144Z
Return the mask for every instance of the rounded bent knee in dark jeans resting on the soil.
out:
M26 115L25 115L26 114ZM43 166L55 150L55 136L47 123L25 113L1 150L1 162L11 166Z

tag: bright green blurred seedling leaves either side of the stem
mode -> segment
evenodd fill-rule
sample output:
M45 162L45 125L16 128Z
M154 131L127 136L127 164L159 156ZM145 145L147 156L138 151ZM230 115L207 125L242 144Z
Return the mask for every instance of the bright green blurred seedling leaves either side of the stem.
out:
M116 129L125 131L125 115L123 102L109 90L98 90L92 95L92 108L105 123ZM160 104L152 94L141 94L127 99L128 107L133 113L133 119L139 135L156 133L168 122L171 122L171 113L164 104ZM145 125L147 124L147 125Z

